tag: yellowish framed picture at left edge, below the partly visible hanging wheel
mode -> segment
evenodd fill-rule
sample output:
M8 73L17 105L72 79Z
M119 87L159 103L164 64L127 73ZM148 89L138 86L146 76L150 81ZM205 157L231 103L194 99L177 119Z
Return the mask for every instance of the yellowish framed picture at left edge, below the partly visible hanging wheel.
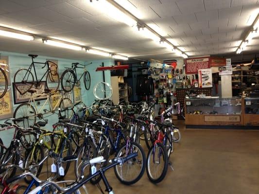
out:
M6 94L0 99L0 119L11 118L13 114L12 93L9 88Z

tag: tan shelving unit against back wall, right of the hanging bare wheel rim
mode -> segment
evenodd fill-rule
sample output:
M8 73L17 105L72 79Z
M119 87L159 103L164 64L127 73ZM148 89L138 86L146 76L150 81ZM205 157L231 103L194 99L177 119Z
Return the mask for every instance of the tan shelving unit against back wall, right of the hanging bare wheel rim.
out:
M111 77L112 86L112 101L114 104L118 104L120 101L125 100L128 102L128 89L127 83L124 82L122 76Z

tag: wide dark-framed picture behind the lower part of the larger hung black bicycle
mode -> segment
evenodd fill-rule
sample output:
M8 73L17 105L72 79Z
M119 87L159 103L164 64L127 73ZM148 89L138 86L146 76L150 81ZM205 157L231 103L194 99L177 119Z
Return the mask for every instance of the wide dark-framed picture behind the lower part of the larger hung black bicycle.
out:
M17 87L23 93L25 85L23 83L17 83ZM34 94L42 94L44 92L45 88L46 88L46 81L42 81L41 87L39 89L35 89L35 88L32 88L32 89L36 90L36 92ZM14 92L14 102L15 102L15 104L28 102L30 100L31 96L32 96L31 93L29 93L29 92L26 92L24 95L21 95L19 93L19 91L17 90L17 88L15 87L15 83L13 83L13 92ZM42 97L42 98L37 99L35 101L43 100L43 99L46 99L46 98L47 97Z

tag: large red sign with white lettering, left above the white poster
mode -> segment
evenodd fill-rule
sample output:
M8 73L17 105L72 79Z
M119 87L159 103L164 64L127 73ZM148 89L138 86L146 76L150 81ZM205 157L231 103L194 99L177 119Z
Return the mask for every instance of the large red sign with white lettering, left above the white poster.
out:
M190 58L185 60L185 73L198 74L198 69L210 68L210 57Z

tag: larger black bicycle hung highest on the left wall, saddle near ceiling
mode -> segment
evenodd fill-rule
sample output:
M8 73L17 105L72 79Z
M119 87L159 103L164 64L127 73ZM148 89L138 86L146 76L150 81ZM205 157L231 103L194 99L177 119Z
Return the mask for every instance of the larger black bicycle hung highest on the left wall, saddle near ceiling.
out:
M14 83L17 91L24 95L26 92L31 90L32 87L35 89L42 88L42 84L44 83L43 78L46 76L46 89L51 92L55 92L59 86L59 75L57 72L57 65L51 61L46 61L45 63L34 62L34 59L38 55L29 54L28 56L32 57L32 64L29 66L28 69L19 69L15 73ZM47 70L41 77L38 79L37 75L39 72L36 73L35 64L42 64L44 65L41 67L42 69L47 65ZM34 75L35 74L35 78Z

